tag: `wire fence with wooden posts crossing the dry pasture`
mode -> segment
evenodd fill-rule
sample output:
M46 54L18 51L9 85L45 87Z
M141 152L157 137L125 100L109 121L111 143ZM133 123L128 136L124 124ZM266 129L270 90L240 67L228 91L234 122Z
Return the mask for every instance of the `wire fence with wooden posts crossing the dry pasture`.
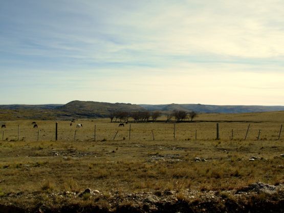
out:
M55 141L55 121L38 121L37 128L29 122L11 121L1 129L3 141ZM78 123L78 122L77 122ZM217 135L215 122L192 123L119 123L82 121L77 123L59 121L58 141L110 141L110 140L278 140L281 124L271 122L219 123Z

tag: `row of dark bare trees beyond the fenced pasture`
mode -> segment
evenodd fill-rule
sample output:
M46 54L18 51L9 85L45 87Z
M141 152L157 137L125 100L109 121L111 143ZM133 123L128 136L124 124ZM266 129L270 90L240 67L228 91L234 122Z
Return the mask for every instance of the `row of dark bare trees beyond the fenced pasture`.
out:
M183 110L174 110L170 113L162 114L160 111L136 111L136 112L125 112L125 111L114 111L108 115L108 118L111 119L111 122L128 122L128 119L132 117L134 122L148 122L152 121L155 122L159 117L162 115L166 116L166 121L171 121L172 118L176 120L176 122L183 122L185 119L192 121L196 116L197 113L194 111L186 112ZM150 120L151 118L151 120Z

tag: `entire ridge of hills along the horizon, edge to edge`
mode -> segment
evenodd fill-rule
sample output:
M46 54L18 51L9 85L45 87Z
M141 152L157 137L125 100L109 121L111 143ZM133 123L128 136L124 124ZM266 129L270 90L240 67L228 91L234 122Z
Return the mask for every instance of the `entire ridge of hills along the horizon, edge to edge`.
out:
M131 104L74 100L67 104L10 104L0 105L2 120L103 118L115 111L195 111L197 113L256 113L284 111L284 106L261 105L207 105L207 104Z

